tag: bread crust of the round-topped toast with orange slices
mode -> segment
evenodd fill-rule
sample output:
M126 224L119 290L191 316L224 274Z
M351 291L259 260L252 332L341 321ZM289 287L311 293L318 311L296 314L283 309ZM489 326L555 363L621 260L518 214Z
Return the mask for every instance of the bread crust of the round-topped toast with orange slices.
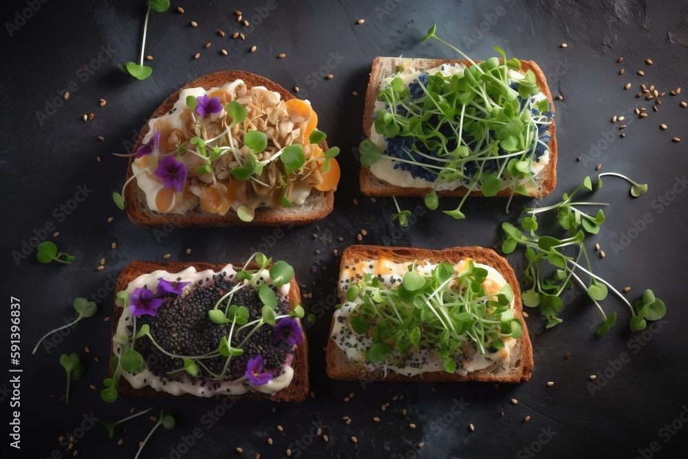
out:
M183 87L175 91L169 96L160 107L151 115L151 118L158 118L172 109L174 104L179 100L182 89L192 87L202 87L204 89L211 89L212 87L220 87L232 81L242 80L244 84L250 89L255 86L263 86L279 93L282 100L293 99L294 96L286 89L277 83L249 72L241 72L239 70L228 70L225 72L215 72L197 78L191 83L186 83ZM142 145L143 139L148 134L148 123L141 131L133 151L138 150ZM323 150L327 150L327 143L323 140L319 144ZM127 179L133 175L131 164L133 163L133 156L129 159L129 169L127 169ZM318 191L312 189L310 195L303 204L294 205L290 208L260 208L255 211L255 218L252 222L244 222L239 219L237 213L230 209L225 215L217 213L210 213L200 209L189 211L183 215L175 213L160 213L151 211L147 202L145 193L136 184L129 184L125 190L125 209L129 219L140 225L147 227L159 227L162 225L174 226L175 228L186 228L190 226L301 226L321 220L327 214L332 212L334 206L334 190Z

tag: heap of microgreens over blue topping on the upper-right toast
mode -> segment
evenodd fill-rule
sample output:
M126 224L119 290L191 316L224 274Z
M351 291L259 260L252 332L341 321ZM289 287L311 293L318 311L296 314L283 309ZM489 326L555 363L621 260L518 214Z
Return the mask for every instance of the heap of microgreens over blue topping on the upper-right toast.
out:
M383 167L424 180L431 189L425 196L429 209L438 207L438 185L463 188L456 209L444 211L456 219L465 218L461 209L471 194L508 191L508 213L514 195L530 195L538 187L535 176L542 168L536 166L547 160L551 140L550 101L541 96L533 70L520 73L521 62L507 59L504 50L495 47L501 59L475 62L436 32L433 25L423 41L448 45L469 67L418 75L400 68L385 78L377 98L384 108L374 114L373 129L386 148L363 140L361 164L372 167L384 159L389 164Z

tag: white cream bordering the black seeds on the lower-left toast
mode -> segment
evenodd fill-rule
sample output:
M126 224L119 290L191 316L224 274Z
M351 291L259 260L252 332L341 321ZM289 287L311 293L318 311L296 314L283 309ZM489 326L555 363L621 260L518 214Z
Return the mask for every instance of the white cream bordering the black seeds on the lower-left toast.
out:
M230 276L235 275L237 272L231 264L228 264L217 273L225 273L226 279L229 279ZM158 278L163 277L166 280L175 280L181 278L180 282L191 282L189 286L184 288L184 293L182 293L182 295L187 295L191 291L191 287L195 286L198 281L204 281L204 285L212 285L213 275L216 275L217 273L215 273L213 270L196 271L193 266L186 268L180 273L168 273L164 270L157 270L153 271L153 273L140 275L133 281L129 282L126 292L127 294L131 295L137 287L143 288L144 286L151 290L155 290L160 283ZM255 284L255 281L259 277L263 277L266 284L270 284L272 281L272 279L270 279L268 270L262 270L259 273L255 273L255 275L252 276L252 283ZM209 281L206 281L205 279L209 279ZM282 295L282 297L286 297L289 294L289 287L290 284L285 284L279 288L279 293ZM122 334L129 337L131 333L127 333L127 325L131 325L132 320L131 310L129 308L125 308L122 311L122 315L118 321L116 334ZM116 356L120 355L120 347L120 343L118 343L116 340L113 340L113 349ZM280 374L279 376L272 378L264 385L255 386L244 385L243 382L208 380L209 383L202 387L199 383L192 385L189 376L186 375L180 376L180 381L167 381L166 378L164 378L165 383L163 384L160 376L155 376L155 374L151 373L148 369L144 369L142 372L137 374L122 371L122 377L129 381L131 387L135 389L141 389L142 387L150 386L158 392L167 392L173 395L193 394L200 397L212 397L216 395L241 395L249 392L250 390L274 395L276 392L287 387L292 381L294 370L291 367L291 361L292 354L287 354L286 361L283 365L284 374ZM217 389L213 388L214 383L219 384Z

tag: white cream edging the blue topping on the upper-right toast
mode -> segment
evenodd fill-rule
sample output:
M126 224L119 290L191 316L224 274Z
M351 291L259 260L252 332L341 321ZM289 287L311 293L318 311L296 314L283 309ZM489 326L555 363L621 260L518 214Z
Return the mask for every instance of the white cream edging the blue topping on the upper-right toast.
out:
M439 67L435 67L433 69L427 70L428 74L435 75L437 72L440 72L440 74L444 76L452 76L452 75L458 75L462 76L464 74L464 70L466 69L466 66L460 63L455 63L453 65L440 65ZM523 74L520 74L519 72L516 72L515 70L510 70L509 75L512 79L514 80L519 80L521 78L524 78ZM420 76L420 70L413 70L412 72L404 72L400 74L394 74L391 76L388 76L385 78L382 83L380 83L380 89L384 89L389 85L389 83L396 78L396 76L400 76L403 80L405 85L408 85L411 83L413 80L418 78ZM542 100L544 98L547 98L547 96L543 92L539 92L539 94L536 94L535 96L530 98L531 104L535 105L539 102L539 100ZM380 100L375 101L375 108L374 108L374 113L376 113L379 109L385 109L385 103ZM375 130L375 126L371 125L370 127L370 132L367 133L368 138L373 142L375 145L377 145L378 149L380 151L385 151L387 149L387 140L385 140L385 137L382 134L378 134L378 132ZM539 173L545 169L547 164L549 164L550 161L550 149L549 147L546 147L545 153L540 156L539 161L533 161L530 164L530 171L532 172L532 177L537 178ZM393 159L390 158L380 158L377 160L372 166L370 167L370 171L375 175L377 178L381 180L385 180L385 182L388 182L390 184L396 185L396 186L402 186L404 188L431 188L433 186L433 182L429 182L428 180L425 180L424 178L413 178L413 175L409 173L409 171L405 171L403 169L397 168L394 169L394 165L398 164ZM530 178L524 178L521 180L519 183L526 183L529 182ZM451 191L460 188L460 186L463 186L464 183L462 180L457 179L457 180L439 180L437 184L435 185L436 191ZM502 186L502 189L506 189L510 187L510 184L508 182L504 182L504 186Z

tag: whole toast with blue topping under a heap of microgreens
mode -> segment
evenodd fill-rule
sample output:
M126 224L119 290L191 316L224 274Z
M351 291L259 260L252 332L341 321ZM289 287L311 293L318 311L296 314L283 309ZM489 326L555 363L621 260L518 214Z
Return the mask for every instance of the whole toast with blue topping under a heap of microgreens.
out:
M553 111L533 61L378 57L365 98L361 191L425 196L430 209L438 195L547 195L557 182ZM447 213L463 218L461 204Z

